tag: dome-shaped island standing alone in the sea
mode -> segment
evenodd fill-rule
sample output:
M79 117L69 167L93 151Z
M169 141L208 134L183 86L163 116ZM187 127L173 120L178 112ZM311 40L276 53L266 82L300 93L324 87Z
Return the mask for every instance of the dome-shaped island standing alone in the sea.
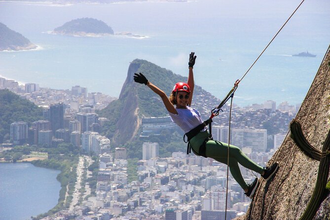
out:
M113 30L103 21L94 18L79 18L55 28L53 34L71 36L113 35Z

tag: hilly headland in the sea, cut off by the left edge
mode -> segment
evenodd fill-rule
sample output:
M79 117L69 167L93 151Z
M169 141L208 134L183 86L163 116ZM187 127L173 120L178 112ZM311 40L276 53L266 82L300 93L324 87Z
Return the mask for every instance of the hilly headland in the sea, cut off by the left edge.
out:
M0 23L0 51L19 51L36 49L37 46L23 35Z

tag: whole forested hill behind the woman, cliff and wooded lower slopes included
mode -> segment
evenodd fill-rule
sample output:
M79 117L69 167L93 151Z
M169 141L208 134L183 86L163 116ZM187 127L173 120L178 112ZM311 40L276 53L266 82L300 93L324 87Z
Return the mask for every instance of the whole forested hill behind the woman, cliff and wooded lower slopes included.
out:
M141 117L168 115L158 95L152 92L147 86L133 81L134 73L140 72L144 73L150 82L157 85L168 95L171 94L176 82L187 81L187 77L175 74L146 60L136 59L132 61L128 68L127 78L122 86L119 99L111 102L107 108L98 111L100 116L110 119L104 130L104 134L112 138L113 146L125 146L128 156L142 157L142 143L144 141L159 143L160 156L169 156L173 151L184 151L185 143L182 141L183 132L180 129L174 133L164 131L161 135L151 136L146 140L139 138L141 134ZM208 99L214 102L218 101L218 99L204 91L200 86L195 85L194 108L202 111L201 108L203 105L197 104L207 103L205 97L208 97Z

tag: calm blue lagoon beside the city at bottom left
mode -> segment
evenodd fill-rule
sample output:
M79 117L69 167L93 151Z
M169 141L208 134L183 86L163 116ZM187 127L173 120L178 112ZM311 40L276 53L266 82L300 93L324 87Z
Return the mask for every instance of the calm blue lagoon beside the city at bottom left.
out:
M28 220L52 209L61 189L59 173L30 163L0 163L0 220Z

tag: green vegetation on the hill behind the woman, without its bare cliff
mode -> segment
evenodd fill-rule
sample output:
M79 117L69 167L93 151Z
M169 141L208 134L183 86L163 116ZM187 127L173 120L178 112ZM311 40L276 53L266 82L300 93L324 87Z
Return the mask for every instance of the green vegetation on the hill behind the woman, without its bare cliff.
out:
M137 72L144 73L148 80L157 85L168 95L171 94L173 85L176 82L187 80L186 77L174 74L165 68L161 68L145 60L136 59L131 62L131 65L136 65ZM198 94L199 89L200 87L196 87L196 94ZM118 126L132 126L132 124L118 124L118 120L122 115L122 112L125 111L123 107L125 104L129 104L131 102L130 99L132 97L137 97L138 99L138 113L140 118L142 116L160 117L168 115L168 112L159 96L147 88L147 86L137 84L133 81L128 83L126 82L122 88L119 99L111 102L107 108L97 112L101 117L110 119L110 122L106 124L102 131L103 135L106 135L108 138L113 138ZM159 154L161 157L171 156L171 153L174 151L185 151L185 144L182 141L183 132L179 129L176 131L164 130L162 134L150 136L149 138L140 138L139 136L141 132L142 129L138 131L133 141L127 142L123 146L127 149L128 158L142 159L143 142L159 143Z

